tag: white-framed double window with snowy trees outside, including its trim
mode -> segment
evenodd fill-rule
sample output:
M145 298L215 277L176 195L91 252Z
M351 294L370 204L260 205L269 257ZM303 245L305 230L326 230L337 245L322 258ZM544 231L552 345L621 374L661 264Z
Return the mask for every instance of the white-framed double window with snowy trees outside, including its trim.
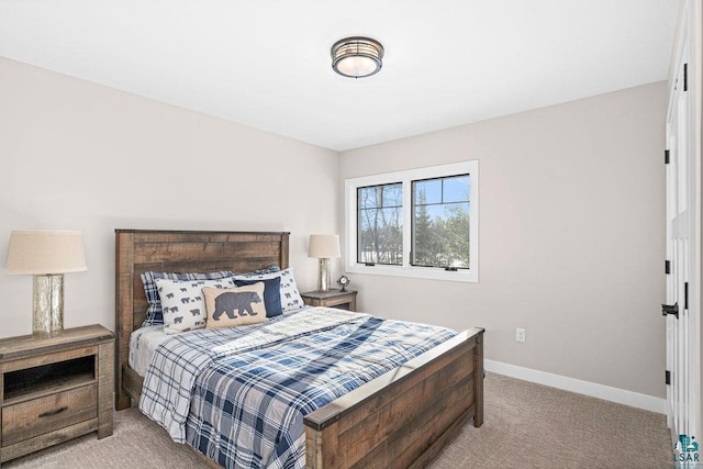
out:
M346 270L478 281L478 161L348 179Z

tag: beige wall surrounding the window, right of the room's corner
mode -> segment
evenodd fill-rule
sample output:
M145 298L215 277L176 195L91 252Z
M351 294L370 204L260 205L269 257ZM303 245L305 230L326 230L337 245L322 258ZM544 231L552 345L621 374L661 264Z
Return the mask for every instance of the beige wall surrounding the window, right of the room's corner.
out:
M341 213L345 178L480 165L479 283L354 275L360 308L483 326L488 359L665 397L666 100L658 82L343 153Z

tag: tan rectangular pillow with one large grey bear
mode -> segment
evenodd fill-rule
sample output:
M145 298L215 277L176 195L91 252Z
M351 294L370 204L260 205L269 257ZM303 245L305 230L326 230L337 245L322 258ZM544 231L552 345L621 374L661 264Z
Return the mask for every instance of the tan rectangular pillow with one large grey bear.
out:
M243 326L266 321L264 288L263 281L223 290L203 288L208 328Z

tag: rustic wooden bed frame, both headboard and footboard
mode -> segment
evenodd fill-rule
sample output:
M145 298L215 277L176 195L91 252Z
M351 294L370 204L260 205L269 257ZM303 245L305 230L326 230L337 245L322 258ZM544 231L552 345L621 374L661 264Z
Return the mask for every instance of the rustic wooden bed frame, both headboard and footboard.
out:
M138 401L130 334L146 316L145 271L288 267L289 233L115 231L116 409ZM470 420L483 423L483 330L470 328L304 418L306 467L424 467Z

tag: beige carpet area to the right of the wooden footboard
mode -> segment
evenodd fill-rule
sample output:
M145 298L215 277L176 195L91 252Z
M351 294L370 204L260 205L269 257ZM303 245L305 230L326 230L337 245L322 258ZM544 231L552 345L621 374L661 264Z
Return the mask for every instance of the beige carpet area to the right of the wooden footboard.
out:
M673 467L665 415L493 373L484 393L483 425L467 425L433 469Z

